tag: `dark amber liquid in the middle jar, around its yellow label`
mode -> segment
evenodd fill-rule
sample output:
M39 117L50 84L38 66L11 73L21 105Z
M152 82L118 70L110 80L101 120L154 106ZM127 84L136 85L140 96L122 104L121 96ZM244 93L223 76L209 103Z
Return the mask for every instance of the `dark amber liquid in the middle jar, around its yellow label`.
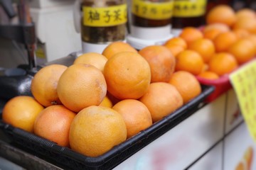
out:
M161 3L161 2L168 2L168 1L170 0L149 0L149 2L152 2L152 3ZM154 28L154 27L167 26L170 23L171 23L171 18L154 20L149 18L142 18L132 13L132 24L134 26Z

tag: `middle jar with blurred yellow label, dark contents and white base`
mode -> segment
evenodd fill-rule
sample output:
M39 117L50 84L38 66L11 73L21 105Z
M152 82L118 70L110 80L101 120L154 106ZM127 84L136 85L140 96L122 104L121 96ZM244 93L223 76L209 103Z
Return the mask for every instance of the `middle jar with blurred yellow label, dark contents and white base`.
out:
M173 6L173 0L132 0L129 40L141 44L137 49L161 44L171 36Z

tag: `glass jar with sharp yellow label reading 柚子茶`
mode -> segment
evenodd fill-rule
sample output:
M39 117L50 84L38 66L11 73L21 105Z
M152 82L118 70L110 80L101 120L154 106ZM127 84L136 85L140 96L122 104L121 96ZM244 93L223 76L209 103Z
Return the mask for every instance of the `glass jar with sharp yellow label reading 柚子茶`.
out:
M82 0L80 32L83 52L102 52L127 35L126 0Z

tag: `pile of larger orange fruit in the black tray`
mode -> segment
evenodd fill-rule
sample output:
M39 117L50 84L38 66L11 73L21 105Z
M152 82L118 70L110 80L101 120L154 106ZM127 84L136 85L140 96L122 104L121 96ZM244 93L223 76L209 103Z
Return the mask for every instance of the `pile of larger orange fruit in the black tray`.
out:
M33 97L8 101L3 120L97 157L201 94L196 77L175 67L163 45L137 51L112 42L102 54L85 53L69 67L40 69L31 82Z

